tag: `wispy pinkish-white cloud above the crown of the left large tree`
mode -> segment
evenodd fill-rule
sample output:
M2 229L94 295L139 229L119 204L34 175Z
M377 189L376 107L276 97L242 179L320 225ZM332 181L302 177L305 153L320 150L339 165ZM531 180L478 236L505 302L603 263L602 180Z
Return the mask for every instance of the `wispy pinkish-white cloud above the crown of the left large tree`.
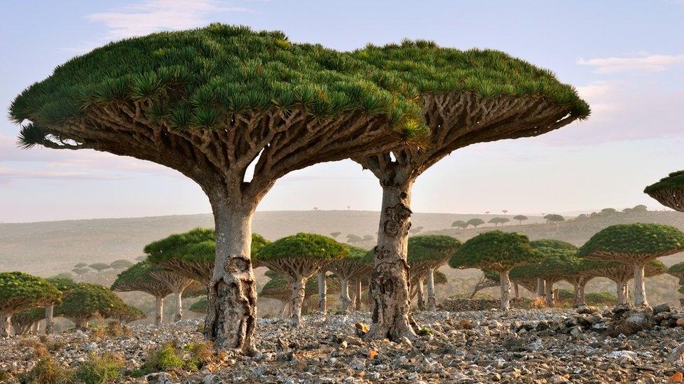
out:
M104 24L109 29L107 38L118 40L158 31L200 27L214 19L217 13L247 10L226 6L216 0L144 0L108 12L92 13L86 18Z

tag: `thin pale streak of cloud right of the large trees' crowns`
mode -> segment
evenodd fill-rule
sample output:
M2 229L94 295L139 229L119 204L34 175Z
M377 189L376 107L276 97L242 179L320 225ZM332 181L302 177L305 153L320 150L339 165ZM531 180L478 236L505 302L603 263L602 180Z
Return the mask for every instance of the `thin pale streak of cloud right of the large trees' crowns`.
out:
M684 63L682 55L643 55L642 57L606 57L578 59L577 64L594 66L594 73L608 74L627 71L657 72Z

